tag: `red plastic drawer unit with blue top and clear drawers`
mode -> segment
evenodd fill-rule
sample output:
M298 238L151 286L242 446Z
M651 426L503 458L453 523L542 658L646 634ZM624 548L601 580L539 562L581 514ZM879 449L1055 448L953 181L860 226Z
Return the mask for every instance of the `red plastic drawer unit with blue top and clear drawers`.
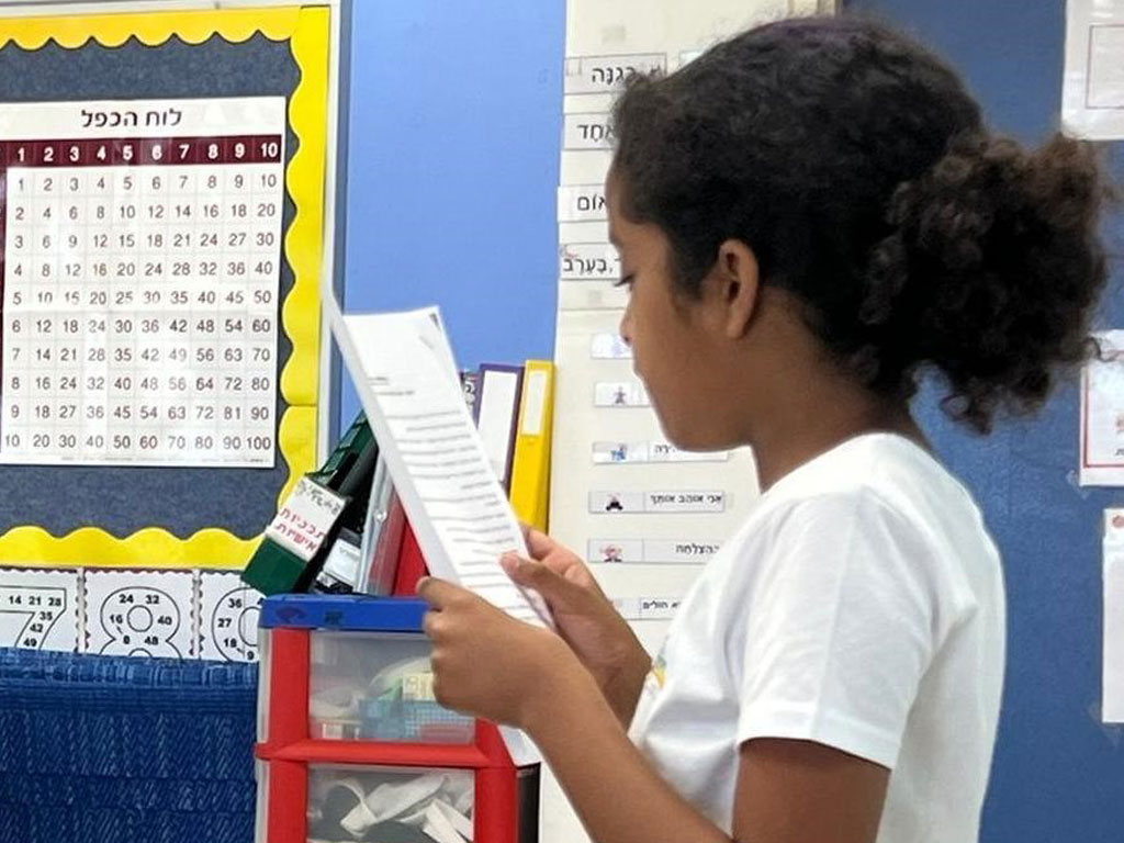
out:
M433 699L425 604L284 595L261 614L257 843L535 843L538 768Z

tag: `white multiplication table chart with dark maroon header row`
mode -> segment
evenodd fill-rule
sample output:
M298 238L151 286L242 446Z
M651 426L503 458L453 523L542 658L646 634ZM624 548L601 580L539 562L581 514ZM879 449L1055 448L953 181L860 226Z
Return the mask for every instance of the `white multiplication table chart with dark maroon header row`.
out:
M0 106L0 463L273 466L285 125Z

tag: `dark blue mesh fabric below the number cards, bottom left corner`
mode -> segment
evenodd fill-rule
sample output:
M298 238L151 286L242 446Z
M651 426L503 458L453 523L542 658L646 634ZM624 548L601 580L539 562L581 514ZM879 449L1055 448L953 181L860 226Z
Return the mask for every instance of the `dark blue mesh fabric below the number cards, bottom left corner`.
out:
M256 664L0 649L0 843L251 843Z

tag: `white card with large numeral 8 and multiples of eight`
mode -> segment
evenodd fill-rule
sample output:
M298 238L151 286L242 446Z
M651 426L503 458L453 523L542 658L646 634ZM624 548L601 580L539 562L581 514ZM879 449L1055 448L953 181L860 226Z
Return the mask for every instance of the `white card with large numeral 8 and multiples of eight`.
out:
M191 659L191 571L85 571L85 652Z

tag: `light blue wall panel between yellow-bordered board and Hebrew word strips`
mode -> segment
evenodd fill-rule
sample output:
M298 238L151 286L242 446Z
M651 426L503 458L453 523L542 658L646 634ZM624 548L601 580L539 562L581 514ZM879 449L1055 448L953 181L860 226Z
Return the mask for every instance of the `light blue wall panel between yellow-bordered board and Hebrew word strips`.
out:
M464 366L552 356L565 3L353 17L345 307L438 303Z

